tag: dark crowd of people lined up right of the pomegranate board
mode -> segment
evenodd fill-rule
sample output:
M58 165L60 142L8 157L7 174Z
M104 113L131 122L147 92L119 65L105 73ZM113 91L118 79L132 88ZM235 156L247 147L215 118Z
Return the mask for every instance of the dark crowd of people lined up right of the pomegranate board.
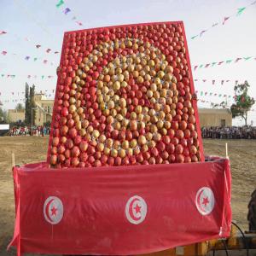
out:
M228 126L228 127L201 127L203 138L224 139L255 139L256 127L253 126Z

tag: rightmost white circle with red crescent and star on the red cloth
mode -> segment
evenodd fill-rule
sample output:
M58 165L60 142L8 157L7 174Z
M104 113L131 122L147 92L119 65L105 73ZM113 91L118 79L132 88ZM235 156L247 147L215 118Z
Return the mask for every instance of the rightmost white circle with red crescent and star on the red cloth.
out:
M197 191L195 196L195 205L201 215L210 214L213 210L214 203L215 199L212 189L208 187L202 187Z

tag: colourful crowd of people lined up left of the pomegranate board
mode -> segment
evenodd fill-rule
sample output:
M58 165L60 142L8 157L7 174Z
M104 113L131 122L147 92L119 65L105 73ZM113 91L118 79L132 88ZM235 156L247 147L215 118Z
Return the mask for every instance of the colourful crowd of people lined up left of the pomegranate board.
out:
M10 129L10 136L26 136L26 135L37 135L37 136L45 136L49 135L49 127L38 125L38 126L14 126Z

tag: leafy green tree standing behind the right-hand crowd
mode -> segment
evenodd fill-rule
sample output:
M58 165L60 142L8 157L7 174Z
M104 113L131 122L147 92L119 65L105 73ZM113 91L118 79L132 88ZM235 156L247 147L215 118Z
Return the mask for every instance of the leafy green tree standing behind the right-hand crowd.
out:
M250 85L247 81L244 84L237 84L234 87L235 90L235 103L231 105L232 117L241 117L247 125L247 113L253 107L255 100L248 95L248 89Z

